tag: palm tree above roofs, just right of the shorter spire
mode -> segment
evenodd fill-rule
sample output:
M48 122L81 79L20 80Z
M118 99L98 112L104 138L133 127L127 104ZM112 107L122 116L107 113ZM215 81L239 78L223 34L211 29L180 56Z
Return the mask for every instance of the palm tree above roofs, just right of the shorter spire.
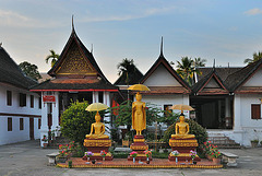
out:
M188 57L182 57L181 62L177 61L177 63L178 74L186 80L189 85L192 85L194 73L200 74L199 70L194 67L194 60Z

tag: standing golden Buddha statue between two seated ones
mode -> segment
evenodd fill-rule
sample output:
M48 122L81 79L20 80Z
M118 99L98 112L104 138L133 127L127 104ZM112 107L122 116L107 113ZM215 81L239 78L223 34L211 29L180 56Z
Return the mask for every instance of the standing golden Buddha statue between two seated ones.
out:
M136 134L141 136L146 128L145 103L141 102L142 95L140 93L135 94L135 98L136 102L132 104L132 127Z

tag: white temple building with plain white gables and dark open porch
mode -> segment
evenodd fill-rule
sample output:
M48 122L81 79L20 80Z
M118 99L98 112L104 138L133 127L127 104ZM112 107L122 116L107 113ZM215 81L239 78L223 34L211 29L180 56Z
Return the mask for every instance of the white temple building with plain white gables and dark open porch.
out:
M191 105L195 110L186 112L186 117L206 128L211 137L226 137L245 146L261 141L262 59L246 67L199 70L202 74L189 86L165 59L162 43L158 59L138 82L151 89L143 92L143 101L165 110L175 104Z

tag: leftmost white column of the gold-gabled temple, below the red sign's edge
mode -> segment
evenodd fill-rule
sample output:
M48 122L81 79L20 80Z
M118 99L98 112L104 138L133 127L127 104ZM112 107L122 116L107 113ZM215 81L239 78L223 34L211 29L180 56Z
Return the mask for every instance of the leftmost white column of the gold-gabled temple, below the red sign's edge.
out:
M47 125L47 104L44 104L43 102L43 95L45 95L45 92L41 92L41 127L40 127L40 146L43 146L43 137L44 134L48 137L48 125Z

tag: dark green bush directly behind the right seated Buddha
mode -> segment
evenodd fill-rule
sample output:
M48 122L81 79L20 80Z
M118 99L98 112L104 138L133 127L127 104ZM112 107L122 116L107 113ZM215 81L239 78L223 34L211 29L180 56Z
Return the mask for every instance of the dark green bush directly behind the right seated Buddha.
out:
M194 134L199 145L202 145L207 140L206 129L200 126L196 121L192 119L186 119L184 121L189 124L189 133ZM165 131L164 141L167 143L169 143L169 139L171 138L171 134L176 133L176 129L175 129L176 122L174 122Z

